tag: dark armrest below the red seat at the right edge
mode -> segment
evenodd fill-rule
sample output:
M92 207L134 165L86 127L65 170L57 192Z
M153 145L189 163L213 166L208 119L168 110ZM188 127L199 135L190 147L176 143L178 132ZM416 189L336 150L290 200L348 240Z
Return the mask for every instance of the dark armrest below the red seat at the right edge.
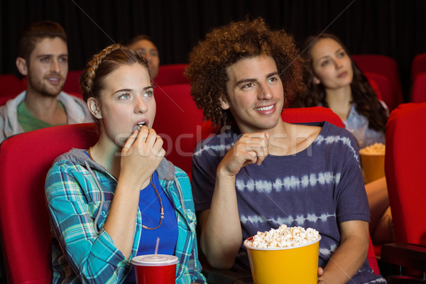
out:
M418 271L426 271L426 246L415 244L383 244L381 261Z

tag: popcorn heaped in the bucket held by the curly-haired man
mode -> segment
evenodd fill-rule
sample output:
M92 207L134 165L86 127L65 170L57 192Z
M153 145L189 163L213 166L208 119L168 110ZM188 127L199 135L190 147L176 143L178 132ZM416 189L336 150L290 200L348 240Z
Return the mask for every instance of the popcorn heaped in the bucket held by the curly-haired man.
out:
M306 230L301 226L287 227L283 224L278 229L261 232L248 241L249 246L259 249L285 248L290 246L301 246L317 240L320 233L312 228Z

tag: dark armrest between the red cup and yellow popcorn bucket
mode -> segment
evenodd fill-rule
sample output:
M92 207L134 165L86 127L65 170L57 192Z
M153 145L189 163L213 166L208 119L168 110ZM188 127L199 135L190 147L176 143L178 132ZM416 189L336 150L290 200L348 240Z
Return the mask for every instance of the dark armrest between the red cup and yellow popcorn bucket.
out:
M250 271L203 268L202 273L209 284L253 284Z

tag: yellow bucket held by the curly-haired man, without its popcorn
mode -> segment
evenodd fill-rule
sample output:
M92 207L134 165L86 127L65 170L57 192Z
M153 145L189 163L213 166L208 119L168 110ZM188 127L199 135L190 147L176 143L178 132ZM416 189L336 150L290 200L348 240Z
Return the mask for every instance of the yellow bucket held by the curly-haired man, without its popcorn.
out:
M318 255L321 236L302 246L260 249L244 241L249 255L254 284L315 284L318 278Z

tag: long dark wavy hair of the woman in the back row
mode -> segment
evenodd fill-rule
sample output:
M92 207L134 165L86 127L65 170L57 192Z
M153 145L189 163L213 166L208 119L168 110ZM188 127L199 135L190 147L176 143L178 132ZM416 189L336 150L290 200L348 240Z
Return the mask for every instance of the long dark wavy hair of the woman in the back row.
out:
M376 131L386 131L386 121L388 121L388 111L383 107L381 102L377 99L376 92L374 92L367 77L356 65L354 60L349 54L349 50L344 46L341 40L336 35L329 33L322 33L317 36L310 36L305 40L302 48L304 50L303 56L306 59L305 66L305 92L295 98L292 103L293 107L316 107L322 104L323 107L328 107L326 93L322 84L314 83L314 74L312 68L312 55L311 51L314 45L324 38L331 38L342 46L346 54L351 59L351 66L354 72L354 78L351 82L352 99L356 104L356 111L368 119L368 128Z

